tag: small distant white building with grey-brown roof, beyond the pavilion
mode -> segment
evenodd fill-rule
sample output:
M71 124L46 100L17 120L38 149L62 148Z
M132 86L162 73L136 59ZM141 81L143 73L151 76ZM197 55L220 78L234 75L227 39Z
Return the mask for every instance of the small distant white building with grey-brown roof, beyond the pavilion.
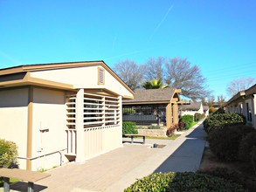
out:
M195 115L195 113L200 113L203 114L204 113L204 106L202 104L202 102L186 102L183 103L183 105L179 106L179 110L181 115L185 115L185 114L190 114L190 115Z

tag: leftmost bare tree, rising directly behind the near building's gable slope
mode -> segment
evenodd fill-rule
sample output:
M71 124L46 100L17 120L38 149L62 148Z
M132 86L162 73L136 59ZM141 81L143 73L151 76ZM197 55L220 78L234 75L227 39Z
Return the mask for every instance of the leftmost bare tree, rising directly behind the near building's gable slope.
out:
M126 59L114 65L114 72L132 89L142 84L144 66L137 65L135 61Z

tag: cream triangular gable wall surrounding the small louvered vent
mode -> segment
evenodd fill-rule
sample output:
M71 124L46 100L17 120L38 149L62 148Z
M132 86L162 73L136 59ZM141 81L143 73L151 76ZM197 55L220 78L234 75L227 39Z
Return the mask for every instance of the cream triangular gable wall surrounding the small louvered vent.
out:
M132 96L132 93L122 86L107 70L105 70L105 85L98 85L99 67L101 65L31 72L31 77L66 83L73 85L75 88L107 88L109 91L118 93L121 96Z

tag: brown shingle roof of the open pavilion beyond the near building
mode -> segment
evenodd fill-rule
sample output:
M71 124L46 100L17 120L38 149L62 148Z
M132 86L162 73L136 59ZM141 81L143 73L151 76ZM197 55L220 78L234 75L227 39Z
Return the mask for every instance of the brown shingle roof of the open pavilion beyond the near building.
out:
M123 99L122 103L170 102L176 88L135 90L135 99Z

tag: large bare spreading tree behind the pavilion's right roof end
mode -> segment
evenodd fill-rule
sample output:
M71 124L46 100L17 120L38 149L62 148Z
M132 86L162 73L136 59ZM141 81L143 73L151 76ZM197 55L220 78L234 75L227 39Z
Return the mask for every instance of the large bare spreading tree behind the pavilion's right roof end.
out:
M191 66L186 58L170 58L165 67L165 82L169 86L182 89L183 96L196 100L207 97L211 93L206 88L206 79L199 67Z

